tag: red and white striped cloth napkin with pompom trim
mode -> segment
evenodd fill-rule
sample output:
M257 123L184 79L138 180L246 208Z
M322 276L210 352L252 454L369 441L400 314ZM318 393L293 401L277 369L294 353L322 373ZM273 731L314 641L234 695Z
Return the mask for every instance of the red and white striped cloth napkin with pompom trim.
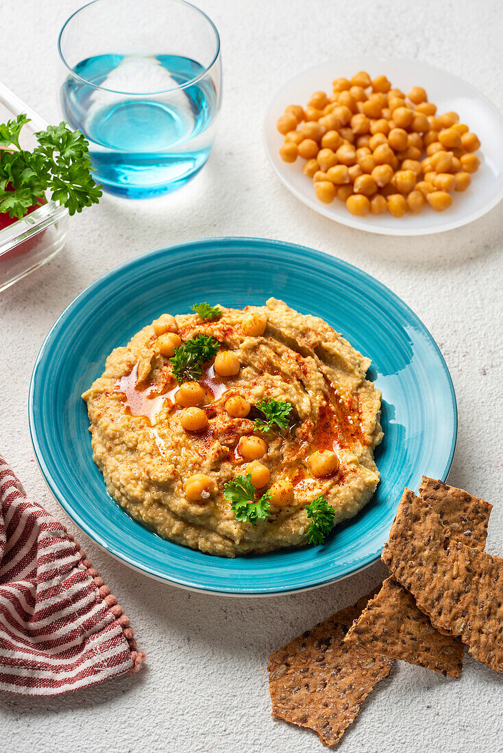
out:
M0 690L59 695L144 658L97 570L0 457Z

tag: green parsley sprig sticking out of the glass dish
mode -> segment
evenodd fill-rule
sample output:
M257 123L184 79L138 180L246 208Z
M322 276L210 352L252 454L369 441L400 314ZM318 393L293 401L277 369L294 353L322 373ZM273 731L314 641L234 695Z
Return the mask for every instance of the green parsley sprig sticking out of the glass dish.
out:
M91 176L84 135L63 122L35 133L38 145L26 151L19 142L26 123L29 117L24 113L0 123L0 212L20 219L30 207L44 203L45 191L51 191L52 200L66 206L70 215L97 204L102 191Z

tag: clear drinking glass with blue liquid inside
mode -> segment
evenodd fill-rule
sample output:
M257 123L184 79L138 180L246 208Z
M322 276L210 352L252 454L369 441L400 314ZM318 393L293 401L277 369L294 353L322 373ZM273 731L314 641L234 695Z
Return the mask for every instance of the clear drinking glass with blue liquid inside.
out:
M63 117L84 133L95 178L141 198L206 162L221 90L219 35L182 0L94 0L60 34Z

